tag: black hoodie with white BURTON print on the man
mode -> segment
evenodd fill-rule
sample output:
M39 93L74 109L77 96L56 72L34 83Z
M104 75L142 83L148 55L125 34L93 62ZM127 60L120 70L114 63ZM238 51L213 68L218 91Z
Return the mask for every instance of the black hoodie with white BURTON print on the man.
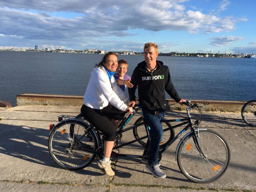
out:
M162 61L156 61L156 63L157 68L152 74L146 70L146 61L137 65L131 78L131 83L134 86L128 88L128 92L130 100L135 101L135 90L138 86L139 103L149 110L162 112L166 109L164 90L176 102L179 102L181 98L171 82L169 68L163 65Z

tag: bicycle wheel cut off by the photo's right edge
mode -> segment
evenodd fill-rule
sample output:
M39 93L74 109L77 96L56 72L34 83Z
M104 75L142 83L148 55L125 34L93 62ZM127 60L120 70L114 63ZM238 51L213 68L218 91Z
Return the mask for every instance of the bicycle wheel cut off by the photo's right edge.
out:
M241 110L243 121L251 127L256 127L256 100L245 103Z

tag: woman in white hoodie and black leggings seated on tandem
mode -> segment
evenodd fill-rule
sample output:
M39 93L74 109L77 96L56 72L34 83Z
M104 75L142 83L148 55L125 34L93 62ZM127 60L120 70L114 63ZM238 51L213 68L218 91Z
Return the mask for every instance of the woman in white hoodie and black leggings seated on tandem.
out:
M117 56L109 52L102 61L93 69L91 77L83 96L81 113L94 127L106 136L104 141L104 158L97 162L107 175L115 173L110 166L110 155L113 149L116 127L124 117L125 111L132 114L135 102L129 102L129 98L117 85L113 77L117 69ZM128 103L128 104L125 104ZM110 122L109 119L112 119Z

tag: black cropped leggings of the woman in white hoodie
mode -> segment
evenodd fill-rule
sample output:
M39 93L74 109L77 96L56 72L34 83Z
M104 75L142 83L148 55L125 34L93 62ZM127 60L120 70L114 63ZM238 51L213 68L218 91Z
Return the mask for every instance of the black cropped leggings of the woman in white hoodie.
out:
M116 129L109 119L122 120L125 112L118 110L109 103L103 109L93 109L83 105L81 114L83 118L106 136L105 141L115 141Z

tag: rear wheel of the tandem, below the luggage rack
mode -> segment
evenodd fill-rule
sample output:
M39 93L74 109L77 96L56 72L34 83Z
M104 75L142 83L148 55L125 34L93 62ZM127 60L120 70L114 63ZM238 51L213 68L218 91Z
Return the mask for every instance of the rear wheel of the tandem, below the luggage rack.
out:
M70 127L74 128L75 134L73 133L72 136ZM53 128L48 139L48 150L51 158L60 167L80 170L95 159L95 151L99 143L92 129L83 136L86 128L88 125L76 120L65 120ZM77 142L77 139L80 141Z

